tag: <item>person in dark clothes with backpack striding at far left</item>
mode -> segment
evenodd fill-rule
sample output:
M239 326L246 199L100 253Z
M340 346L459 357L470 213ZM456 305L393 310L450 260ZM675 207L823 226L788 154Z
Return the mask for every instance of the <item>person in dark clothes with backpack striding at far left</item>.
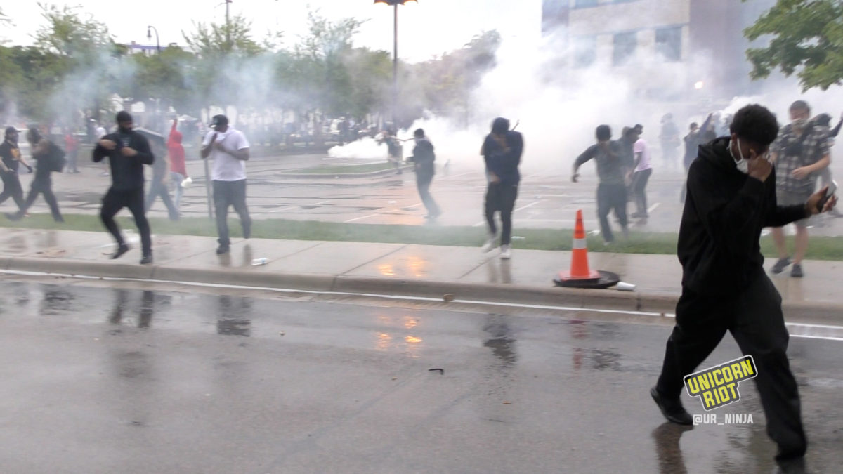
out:
M64 222L62 212L58 208L58 200L56 200L56 195L52 191L52 179L50 177L51 173L56 171L56 167L54 167L56 160L63 159L64 152L61 148L56 147L55 143L43 137L36 127L30 127L26 132L26 140L30 143L32 158L35 159L35 178L32 179L30 184L30 192L26 195L24 206L20 207L17 213L7 213L6 218L13 221L24 218L38 195L43 194L44 201L50 207L53 220ZM57 171L61 170L61 167L57 168Z

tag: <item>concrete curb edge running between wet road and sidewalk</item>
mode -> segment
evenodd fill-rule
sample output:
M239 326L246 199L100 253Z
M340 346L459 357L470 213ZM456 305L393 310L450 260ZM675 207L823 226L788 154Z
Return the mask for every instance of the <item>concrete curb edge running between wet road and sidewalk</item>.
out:
M167 282L204 283L257 288L287 288L315 292L362 293L443 299L477 300L500 304L535 304L572 308L673 314L679 294L625 292L609 289L540 288L503 283L447 282L382 277L267 272L266 267L201 269L169 266L142 267L112 261L62 258L0 257L9 271L44 272L85 277L131 278ZM786 301L789 322L840 324L843 304Z

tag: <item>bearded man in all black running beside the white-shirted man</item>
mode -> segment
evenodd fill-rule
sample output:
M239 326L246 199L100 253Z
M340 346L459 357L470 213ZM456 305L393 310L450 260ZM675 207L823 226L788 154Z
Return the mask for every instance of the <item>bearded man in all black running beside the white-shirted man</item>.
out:
M153 164L155 157L146 137L132 130L132 116L126 110L117 114L117 132L102 137L94 148L94 162L99 163L105 157L111 168L111 187L103 197L99 218L117 242L117 250L111 258L120 258L129 251L129 245L114 221L114 216L123 207L128 207L141 234L141 264L152 263L152 239L143 213L143 165Z

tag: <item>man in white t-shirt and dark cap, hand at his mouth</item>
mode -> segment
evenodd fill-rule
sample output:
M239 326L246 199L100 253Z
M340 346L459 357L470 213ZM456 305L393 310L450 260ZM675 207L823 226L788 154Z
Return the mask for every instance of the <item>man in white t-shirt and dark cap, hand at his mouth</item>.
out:
M239 130L228 127L228 117L213 116L213 130L202 140L201 157L211 157L213 168L213 202L217 214L217 234L219 247L217 254L228 253L231 240L228 239L228 206L234 206L234 212L240 216L243 236L251 234L252 219L246 207L246 164L249 159L249 142Z

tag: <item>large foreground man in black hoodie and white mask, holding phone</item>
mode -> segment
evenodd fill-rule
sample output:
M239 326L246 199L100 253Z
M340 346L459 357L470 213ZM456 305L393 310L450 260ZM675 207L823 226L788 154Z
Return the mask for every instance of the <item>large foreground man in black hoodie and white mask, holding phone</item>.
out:
M650 395L669 421L691 424L679 401L684 377L730 331L741 351L754 358L767 434L778 444L776 460L801 460L807 440L787 361L781 296L762 267L759 238L764 227L819 213L824 190L803 205L778 206L776 173L766 157L778 133L770 110L747 105L735 114L730 132L701 145L690 165L679 226L682 295ZM832 197L823 210L835 202Z

